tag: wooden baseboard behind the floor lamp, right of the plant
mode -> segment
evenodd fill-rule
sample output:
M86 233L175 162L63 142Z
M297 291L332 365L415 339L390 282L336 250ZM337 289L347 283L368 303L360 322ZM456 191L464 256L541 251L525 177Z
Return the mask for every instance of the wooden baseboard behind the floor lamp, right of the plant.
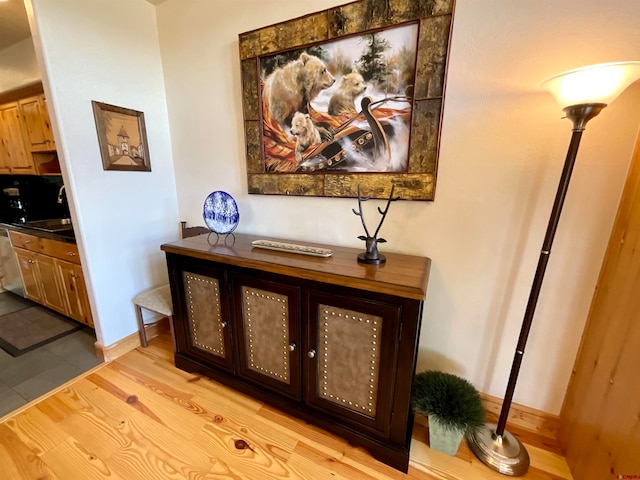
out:
M502 409L502 399L481 393L480 398L487 412L487 420L497 421ZM560 426L560 417L552 413L536 410L517 403L512 403L507 417L507 430L514 425L525 430L536 432L544 437L556 439Z

